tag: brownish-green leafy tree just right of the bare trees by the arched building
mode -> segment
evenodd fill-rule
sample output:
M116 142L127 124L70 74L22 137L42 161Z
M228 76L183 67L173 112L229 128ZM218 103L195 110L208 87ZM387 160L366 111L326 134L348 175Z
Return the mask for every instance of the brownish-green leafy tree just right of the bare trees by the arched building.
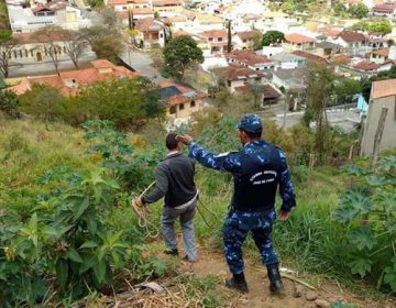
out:
M82 33L98 58L116 62L124 52L125 46L122 37L112 28L95 25L82 30Z

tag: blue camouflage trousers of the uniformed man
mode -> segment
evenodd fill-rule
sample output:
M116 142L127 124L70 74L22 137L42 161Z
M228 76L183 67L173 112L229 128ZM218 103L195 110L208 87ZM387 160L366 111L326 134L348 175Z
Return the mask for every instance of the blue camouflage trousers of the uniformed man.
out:
M252 231L264 265L278 263L271 240L272 226L276 219L274 210L262 212L230 211L223 227L223 244L227 263L232 274L243 272L242 245Z

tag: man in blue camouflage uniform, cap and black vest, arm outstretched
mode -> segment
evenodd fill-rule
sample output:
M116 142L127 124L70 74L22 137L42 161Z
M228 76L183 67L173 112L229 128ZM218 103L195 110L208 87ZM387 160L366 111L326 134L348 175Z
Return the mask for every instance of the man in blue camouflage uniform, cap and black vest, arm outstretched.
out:
M177 139L188 145L189 156L204 166L233 175L234 191L223 227L224 253L233 276L226 280L226 286L249 292L243 274L242 244L252 231L263 264L267 267L270 289L282 293L283 283L271 232L276 219L274 206L278 186L283 199L280 220L287 220L290 209L296 206L286 156L280 148L261 140L263 127L258 116L245 114L237 128L243 145L239 152L216 155L189 135Z

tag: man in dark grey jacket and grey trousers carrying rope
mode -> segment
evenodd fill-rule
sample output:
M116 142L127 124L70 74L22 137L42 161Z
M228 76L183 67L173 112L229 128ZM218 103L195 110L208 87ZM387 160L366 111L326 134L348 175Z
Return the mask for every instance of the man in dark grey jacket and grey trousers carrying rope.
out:
M195 262L197 249L194 231L194 216L198 200L198 190L194 183L194 161L180 152L180 143L175 133L166 135L166 147L169 150L156 168L156 186L153 193L134 200L142 207L153 204L165 196L165 204L161 216L161 226L167 250L165 253L178 255L175 234L175 220L179 218L183 230L183 246L186 260Z

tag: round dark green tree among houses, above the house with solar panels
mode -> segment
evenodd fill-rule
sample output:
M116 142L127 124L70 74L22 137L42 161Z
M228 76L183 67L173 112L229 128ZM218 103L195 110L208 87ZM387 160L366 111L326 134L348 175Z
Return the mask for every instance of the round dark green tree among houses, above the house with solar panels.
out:
M180 35L172 38L164 48L165 66L162 75L182 80L186 68L194 63L202 63L202 51L191 36Z

